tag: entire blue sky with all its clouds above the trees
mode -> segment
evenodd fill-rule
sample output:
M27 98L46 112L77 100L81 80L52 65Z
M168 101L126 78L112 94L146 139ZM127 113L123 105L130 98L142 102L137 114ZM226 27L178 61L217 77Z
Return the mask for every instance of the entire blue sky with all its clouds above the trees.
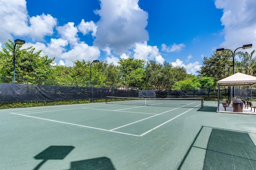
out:
M0 6L0 47L24 39L24 48L43 50L58 65L134 57L196 74L217 48L256 41L255 0L0 0Z

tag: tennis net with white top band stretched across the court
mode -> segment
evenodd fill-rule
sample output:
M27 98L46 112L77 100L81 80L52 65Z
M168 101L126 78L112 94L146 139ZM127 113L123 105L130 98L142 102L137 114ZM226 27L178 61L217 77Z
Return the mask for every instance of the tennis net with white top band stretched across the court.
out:
M203 108L204 98L126 98L106 96L106 104Z

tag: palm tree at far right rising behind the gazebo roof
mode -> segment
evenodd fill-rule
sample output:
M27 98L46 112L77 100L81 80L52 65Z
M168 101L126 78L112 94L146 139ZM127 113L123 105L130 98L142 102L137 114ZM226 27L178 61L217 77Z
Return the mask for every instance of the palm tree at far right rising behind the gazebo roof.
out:
M255 50L253 50L250 54L242 51L236 53L239 56L241 66L244 68L244 72L251 76L256 70L256 57L252 57L254 53Z

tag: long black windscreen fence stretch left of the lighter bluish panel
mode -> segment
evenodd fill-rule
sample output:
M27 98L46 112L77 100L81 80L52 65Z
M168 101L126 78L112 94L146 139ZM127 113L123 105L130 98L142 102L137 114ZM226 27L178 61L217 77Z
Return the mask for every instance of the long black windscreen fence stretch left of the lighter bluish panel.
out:
M0 83L0 102L105 99L138 97L138 90Z

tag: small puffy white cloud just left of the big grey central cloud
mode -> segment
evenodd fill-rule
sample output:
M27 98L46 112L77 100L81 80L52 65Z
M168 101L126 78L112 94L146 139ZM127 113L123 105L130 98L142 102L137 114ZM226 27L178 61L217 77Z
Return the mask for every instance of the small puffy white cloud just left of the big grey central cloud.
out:
M83 35L92 32L92 36L96 36L97 26L94 21L84 22L84 19L82 19L81 23L78 25L78 29L83 33Z

